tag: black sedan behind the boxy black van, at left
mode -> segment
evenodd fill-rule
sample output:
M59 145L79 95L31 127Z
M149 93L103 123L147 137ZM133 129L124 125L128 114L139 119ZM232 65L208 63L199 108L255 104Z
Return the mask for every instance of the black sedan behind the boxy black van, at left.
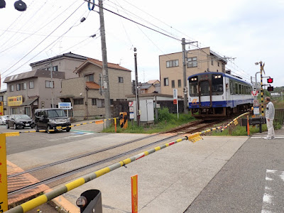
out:
M35 126L33 119L26 114L12 114L9 116L9 119L6 119L7 129L10 127L13 127L13 129L31 127L31 129L33 129L33 126Z

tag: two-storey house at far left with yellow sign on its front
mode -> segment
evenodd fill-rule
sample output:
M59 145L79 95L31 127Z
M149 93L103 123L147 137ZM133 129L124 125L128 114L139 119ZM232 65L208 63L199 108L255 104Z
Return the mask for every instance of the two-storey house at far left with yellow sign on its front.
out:
M35 109L58 107L64 78L65 72L49 70L33 70L6 77L8 114L33 116Z

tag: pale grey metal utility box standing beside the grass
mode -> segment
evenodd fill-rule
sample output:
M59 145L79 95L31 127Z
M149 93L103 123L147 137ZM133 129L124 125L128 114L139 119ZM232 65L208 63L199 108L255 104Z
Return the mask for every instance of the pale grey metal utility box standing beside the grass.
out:
M153 123L154 122L154 101L153 99L140 99L140 122ZM134 121L136 121L136 101L133 101L134 107Z

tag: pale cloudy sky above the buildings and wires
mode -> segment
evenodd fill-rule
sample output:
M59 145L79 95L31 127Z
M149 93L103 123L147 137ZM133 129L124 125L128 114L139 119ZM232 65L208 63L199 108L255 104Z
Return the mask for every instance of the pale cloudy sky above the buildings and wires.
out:
M6 1L6 8L0 9L2 82L6 76L30 71L31 62L70 51L102 60L99 14L89 11L86 2L23 1L28 6L24 12L14 9L14 1ZM274 78L273 85L284 85L284 0L104 0L104 7L156 31L197 40L200 48L209 46L219 55L234 58L226 68L246 80L259 71L254 63L262 60L266 75ZM94 10L98 11L96 7ZM83 23L82 17L86 18ZM104 20L108 62L134 70L136 47L139 81L158 79L158 56L180 52L182 48L180 40L108 11L104 11ZM187 45L187 50L193 48Z

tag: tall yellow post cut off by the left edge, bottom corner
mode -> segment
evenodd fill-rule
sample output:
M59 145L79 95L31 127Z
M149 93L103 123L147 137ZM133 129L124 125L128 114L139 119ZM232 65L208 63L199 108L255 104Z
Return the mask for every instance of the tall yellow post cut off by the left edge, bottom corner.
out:
M8 211L6 136L0 134L0 212Z

